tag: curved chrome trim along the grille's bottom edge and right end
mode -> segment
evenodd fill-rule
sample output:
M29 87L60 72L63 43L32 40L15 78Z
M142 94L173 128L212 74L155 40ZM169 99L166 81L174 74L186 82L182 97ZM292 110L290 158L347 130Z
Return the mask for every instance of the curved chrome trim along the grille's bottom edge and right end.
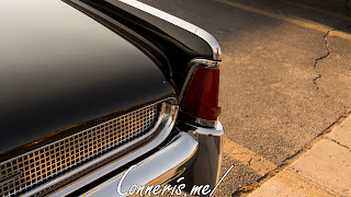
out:
M133 161L134 159L136 159L138 157L141 157L143 154L147 153L148 151L150 151L154 148L156 148L157 146L159 146L169 136L169 134L172 130L173 125L176 123L176 118L177 118L177 115L178 115L178 108L179 108L178 105L170 104L170 103L174 103L174 101L176 101L176 99L168 99L168 100L160 101L160 102L163 102L162 106L161 106L160 118L156 123L156 125L152 128L152 130L149 131L149 134L159 132L158 136L156 136L154 138L154 140L151 140L148 143L144 144L139 149L134 150L134 151L132 151L132 153L127 153L126 155L123 155L122 158L120 158L114 163L114 166L116 166L116 165L118 165L118 166L125 165L129 161ZM159 102L157 102L157 103L159 103ZM157 103L154 103L151 105L155 105ZM131 141L129 143L126 143L126 144L132 146L132 143L133 144L136 143L136 140ZM66 178L69 178L70 176L79 173L80 171L83 171L84 169L88 169L88 167L90 167L90 166L92 166L94 164L98 164L99 162L102 162L105 159L109 159L110 157L113 157L114 154L117 154L121 151L122 148L124 148L124 147L121 147L121 148L117 148L117 149L115 149L115 150L113 150L111 152L107 152L106 154L103 154L102 157L94 159L93 161L91 161L90 163L87 163L86 165L77 167L77 169L68 172L67 174L64 174L64 175L57 177L56 179L53 179L52 182L43 184L43 185L30 190L29 193L25 193L23 196L32 196L32 195L35 195L36 193L39 193L43 189L49 188L50 186L54 186L55 184L57 184L57 183L59 183L59 182L61 182L61 181L64 181ZM106 169L106 167L104 167L104 169ZM115 169L113 169L113 170L115 170ZM105 173L107 173L107 172L105 172ZM89 176L88 179L83 178L84 179L83 183L84 184L89 184L90 182L93 182L94 179L97 179L97 178L99 178L101 176L103 176L103 174ZM77 188L79 188L80 186L82 186L82 185L69 184L68 188L65 187L65 189L73 192Z

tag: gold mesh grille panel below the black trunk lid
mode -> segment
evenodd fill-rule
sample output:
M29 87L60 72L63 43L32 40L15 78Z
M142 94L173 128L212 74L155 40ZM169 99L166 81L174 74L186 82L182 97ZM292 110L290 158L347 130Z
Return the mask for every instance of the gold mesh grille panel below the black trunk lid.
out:
M1 163L1 196L18 195L147 134L157 116L158 105L140 108Z

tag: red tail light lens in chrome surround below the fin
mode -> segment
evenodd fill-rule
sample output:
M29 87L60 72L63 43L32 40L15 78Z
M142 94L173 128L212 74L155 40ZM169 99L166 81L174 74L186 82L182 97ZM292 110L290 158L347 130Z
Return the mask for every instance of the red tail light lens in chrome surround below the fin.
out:
M181 111L197 118L216 120L220 114L218 88L218 68L197 69L184 96Z

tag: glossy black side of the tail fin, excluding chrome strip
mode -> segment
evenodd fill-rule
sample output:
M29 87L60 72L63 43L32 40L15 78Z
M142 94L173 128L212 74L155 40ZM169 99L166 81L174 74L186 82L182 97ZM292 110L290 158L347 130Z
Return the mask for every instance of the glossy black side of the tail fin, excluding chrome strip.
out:
M191 59L213 58L212 48L199 36L118 0L65 1L78 8L83 7L98 15L107 15L160 48L171 65L172 79L179 90L183 86L189 71L186 66Z

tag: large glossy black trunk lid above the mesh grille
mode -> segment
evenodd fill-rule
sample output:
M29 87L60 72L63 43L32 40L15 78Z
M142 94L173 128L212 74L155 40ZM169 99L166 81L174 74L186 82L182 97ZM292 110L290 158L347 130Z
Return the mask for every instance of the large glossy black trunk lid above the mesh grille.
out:
M173 94L156 61L75 8L8 1L0 8L1 153Z

